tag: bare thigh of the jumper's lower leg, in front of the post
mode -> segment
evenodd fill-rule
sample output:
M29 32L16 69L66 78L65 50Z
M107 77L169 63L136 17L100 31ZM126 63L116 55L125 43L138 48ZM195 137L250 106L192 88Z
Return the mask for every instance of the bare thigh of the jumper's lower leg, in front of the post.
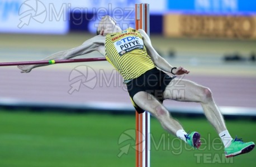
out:
M161 108L167 111L160 101L158 101L153 95L148 94L147 92L144 92L144 91L140 91L137 94L135 94L132 100L141 109L150 112L154 116L157 115L157 109Z

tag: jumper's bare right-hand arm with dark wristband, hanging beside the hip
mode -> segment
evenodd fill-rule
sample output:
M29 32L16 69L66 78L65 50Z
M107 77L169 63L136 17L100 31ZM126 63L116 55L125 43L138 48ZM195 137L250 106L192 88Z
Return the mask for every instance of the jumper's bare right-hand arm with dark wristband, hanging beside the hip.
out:
M153 48L153 46L151 44L151 40L150 40L149 36L146 34L146 32L144 30L139 30L139 32L143 36L144 45L148 51L149 56L155 63L155 65L157 67L159 67L160 69L162 69L163 71L170 73L173 66L170 65L163 57L161 57L157 51L155 51L155 49ZM184 73L189 73L189 71L183 67L178 67L177 69L173 70L173 73L175 73L176 75L182 75Z

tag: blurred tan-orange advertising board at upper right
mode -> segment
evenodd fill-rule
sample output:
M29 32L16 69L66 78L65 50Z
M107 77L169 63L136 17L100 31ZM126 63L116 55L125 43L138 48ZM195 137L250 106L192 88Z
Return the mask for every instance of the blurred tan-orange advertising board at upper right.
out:
M164 35L169 37L256 38L256 16L167 14Z

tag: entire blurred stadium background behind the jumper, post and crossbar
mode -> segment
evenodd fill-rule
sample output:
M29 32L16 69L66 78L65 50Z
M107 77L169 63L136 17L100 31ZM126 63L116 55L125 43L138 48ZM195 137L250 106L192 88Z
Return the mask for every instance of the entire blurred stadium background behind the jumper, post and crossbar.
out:
M254 1L0 0L0 62L41 60L77 47L95 35L105 14L122 28L134 27L135 3L150 4L150 37L160 55L190 70L185 79L210 87L234 137L255 142ZM205 142L191 150L152 118L151 166L254 166L255 151L225 159L200 105L164 105ZM127 134L135 128L134 114L122 78L108 62L30 73L0 67L0 166L134 166L134 134Z

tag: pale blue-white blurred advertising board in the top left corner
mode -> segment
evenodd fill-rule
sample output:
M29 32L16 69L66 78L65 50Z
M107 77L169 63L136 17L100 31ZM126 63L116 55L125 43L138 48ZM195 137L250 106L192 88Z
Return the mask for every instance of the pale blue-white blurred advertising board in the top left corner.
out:
M0 32L68 32L67 7L50 0L0 0Z

